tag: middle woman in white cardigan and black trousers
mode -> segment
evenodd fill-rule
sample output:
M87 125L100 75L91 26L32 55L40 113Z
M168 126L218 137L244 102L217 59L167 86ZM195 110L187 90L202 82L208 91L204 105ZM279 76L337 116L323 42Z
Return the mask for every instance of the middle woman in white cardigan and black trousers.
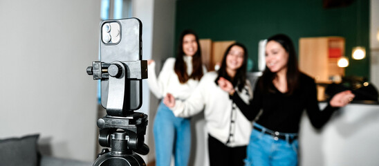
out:
M243 116L217 81L220 77L230 80L233 89L248 102L252 91L246 80L247 58L245 46L232 44L225 52L219 71L205 74L190 98L176 100L167 93L163 101L179 117L194 116L204 109L211 166L243 165L252 122Z

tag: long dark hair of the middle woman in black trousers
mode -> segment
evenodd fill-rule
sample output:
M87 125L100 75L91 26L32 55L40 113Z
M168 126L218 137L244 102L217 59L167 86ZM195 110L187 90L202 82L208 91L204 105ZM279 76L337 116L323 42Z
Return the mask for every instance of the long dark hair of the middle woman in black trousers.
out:
M243 62L242 62L242 66L237 69L237 73L236 75L234 75L234 78L232 79L226 72L226 57L228 56L229 51L233 46L239 46L243 49ZM246 49L245 46L243 46L243 44L234 43L230 45L225 50L225 53L223 55L223 62L221 62L221 67L219 71L217 71L219 76L217 77L216 82L217 80L219 80L219 77L224 77L226 80L229 80L230 82L232 82L234 87L238 86L238 90L241 91L243 89L243 86L245 86L246 84L246 66L247 66L247 61L248 61L247 59L248 59L248 50Z

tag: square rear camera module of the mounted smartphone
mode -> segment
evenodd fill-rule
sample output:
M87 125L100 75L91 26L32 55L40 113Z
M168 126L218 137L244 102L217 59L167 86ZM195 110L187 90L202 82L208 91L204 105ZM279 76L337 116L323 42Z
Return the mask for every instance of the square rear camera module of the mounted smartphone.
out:
M120 24L118 22L102 24L102 42L104 44L117 44L120 42Z

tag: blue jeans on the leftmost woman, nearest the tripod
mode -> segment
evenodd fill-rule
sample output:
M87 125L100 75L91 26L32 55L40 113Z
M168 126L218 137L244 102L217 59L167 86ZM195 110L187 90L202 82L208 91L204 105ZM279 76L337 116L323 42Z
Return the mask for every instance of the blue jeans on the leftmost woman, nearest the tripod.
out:
M176 166L188 165L191 149L191 126L187 118L178 118L160 102L154 120L156 166L169 166L174 154Z

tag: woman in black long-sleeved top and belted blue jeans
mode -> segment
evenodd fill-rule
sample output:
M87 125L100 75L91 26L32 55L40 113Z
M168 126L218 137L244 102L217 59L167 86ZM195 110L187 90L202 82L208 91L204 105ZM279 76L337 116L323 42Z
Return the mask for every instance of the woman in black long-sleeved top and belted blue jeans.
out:
M246 165L297 165L297 133L304 109L313 126L320 128L333 111L354 98L351 91L338 93L320 111L315 81L299 71L293 42L286 35L268 39L266 70L250 104L234 93L228 80L221 79L219 84L249 120L254 120L263 109L250 136Z

